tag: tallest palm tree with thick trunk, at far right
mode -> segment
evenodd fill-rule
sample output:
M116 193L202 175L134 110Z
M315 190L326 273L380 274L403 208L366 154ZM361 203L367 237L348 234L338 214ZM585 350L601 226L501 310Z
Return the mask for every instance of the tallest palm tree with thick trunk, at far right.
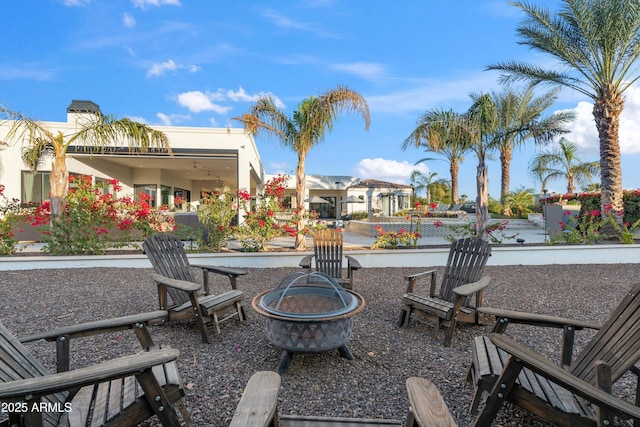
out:
M640 58L640 0L562 0L551 15L529 3L514 5L526 14L518 26L522 40L534 50L550 54L561 71L538 64L504 62L487 69L507 74L503 80L527 80L564 86L594 102L593 117L600 138L601 205L611 205L622 224L622 170L619 128L624 92L638 78Z

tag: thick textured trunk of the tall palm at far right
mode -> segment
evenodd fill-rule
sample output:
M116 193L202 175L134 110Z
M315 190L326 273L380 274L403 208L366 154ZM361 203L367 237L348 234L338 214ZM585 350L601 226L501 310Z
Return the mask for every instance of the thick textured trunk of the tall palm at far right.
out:
M611 87L603 87L593 105L593 117L600 138L600 193L601 211L611 208L610 214L616 222L623 222L622 169L620 167L620 114L624 108L624 98ZM605 235L614 234L613 226L606 227Z

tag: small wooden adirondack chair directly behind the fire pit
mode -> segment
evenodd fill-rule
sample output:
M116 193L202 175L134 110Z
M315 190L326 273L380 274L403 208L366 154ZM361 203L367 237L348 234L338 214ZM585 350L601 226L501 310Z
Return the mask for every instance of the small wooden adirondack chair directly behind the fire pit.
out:
M352 256L343 255L344 236L341 231L326 228L313 233L313 255L305 256L300 267L311 271L315 261L316 271L328 274L345 289L353 289L353 272L361 268L360 263ZM346 277L342 277L342 259L347 260Z

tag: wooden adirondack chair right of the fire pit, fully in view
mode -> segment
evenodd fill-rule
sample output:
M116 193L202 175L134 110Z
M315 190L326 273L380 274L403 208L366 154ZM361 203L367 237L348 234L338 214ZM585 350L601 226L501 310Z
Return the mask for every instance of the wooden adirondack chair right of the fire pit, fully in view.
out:
M411 314L415 313L433 323L436 338L441 325L448 327L444 345L451 345L457 322L479 322L476 307L482 305L482 293L491 282L489 277L482 277L489 256L491 246L485 240L468 237L452 243L438 294L436 270L405 275L407 292L402 297L398 325L408 325ZM428 295L416 293L415 290L418 279L425 276L431 278ZM472 305L474 295L475 305Z

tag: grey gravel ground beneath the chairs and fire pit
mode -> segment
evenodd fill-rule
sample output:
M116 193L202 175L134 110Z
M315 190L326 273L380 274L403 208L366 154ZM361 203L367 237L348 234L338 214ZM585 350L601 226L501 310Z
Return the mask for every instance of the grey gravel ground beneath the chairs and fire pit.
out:
M399 300L404 273L420 269L371 268L358 271L355 290L367 301L354 318L348 347L352 361L337 351L296 355L283 375L279 394L281 413L402 419L408 401L405 380L422 376L433 381L460 426L469 425L472 387L466 383L471 342L488 326L461 325L449 348L433 329L412 321L398 328ZM186 386L186 402L196 426L228 425L249 377L259 370L276 369L281 351L264 336L264 321L250 308L250 299L276 285L295 269L253 269L240 279L247 295L248 321L222 325L213 344L203 344L194 322L151 327L156 342L180 350L179 368ZM440 272L442 269L440 269ZM156 309L157 296L150 269L59 269L5 272L0 278L2 322L17 336ZM602 322L637 280L638 266L546 265L487 267L492 284L485 305L549 313ZM217 286L226 280L216 277ZM547 335L523 326L511 326L510 335L555 357L559 335ZM538 332L538 333L534 333ZM580 335L578 346L589 336ZM29 344L47 366L55 361L54 345ZM133 334L105 335L74 341L72 367L80 367L139 350ZM631 393L622 380L623 394ZM547 424L511 406L504 407L495 425Z

